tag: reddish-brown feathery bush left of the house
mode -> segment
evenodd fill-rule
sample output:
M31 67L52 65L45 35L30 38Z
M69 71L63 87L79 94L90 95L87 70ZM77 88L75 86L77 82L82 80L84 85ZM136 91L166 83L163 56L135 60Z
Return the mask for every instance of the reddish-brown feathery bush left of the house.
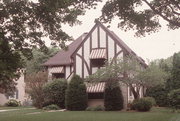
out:
M42 108L44 103L43 85L47 83L47 72L25 75L26 92L31 96L33 105Z

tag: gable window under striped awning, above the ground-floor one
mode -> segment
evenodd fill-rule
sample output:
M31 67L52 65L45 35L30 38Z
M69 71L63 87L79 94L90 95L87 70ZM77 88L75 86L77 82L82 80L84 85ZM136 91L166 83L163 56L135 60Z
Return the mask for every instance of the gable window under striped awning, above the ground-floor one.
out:
M92 67L102 67L107 59L107 53L105 48L95 48L90 54Z

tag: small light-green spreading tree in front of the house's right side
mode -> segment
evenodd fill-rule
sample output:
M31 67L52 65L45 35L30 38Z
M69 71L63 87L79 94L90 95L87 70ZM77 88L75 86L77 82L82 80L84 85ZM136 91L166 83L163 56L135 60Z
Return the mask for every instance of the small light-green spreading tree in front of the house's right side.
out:
M167 76L167 73L155 63L143 67L137 58L127 56L124 59L116 59L115 62L108 62L104 68L89 76L87 80L90 82L108 79L119 80L129 86L134 98L138 99L140 88L164 83Z

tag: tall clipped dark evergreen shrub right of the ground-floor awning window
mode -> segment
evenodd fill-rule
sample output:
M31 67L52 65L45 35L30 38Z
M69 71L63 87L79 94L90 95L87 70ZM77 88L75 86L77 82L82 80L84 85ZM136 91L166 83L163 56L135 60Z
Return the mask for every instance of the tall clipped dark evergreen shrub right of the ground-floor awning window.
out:
M105 84L104 107L107 111L123 109L123 96L116 80L108 80Z

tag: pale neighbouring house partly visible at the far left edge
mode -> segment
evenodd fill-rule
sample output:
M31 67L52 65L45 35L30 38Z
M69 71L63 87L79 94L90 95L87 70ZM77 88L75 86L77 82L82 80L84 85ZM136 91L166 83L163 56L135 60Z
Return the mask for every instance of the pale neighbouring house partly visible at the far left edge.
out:
M10 99L15 99L19 101L22 105L24 104L26 99L26 93L23 73L21 73L20 78L17 80L16 91L14 92L14 95L7 96L5 94L0 93L0 105L4 105Z

